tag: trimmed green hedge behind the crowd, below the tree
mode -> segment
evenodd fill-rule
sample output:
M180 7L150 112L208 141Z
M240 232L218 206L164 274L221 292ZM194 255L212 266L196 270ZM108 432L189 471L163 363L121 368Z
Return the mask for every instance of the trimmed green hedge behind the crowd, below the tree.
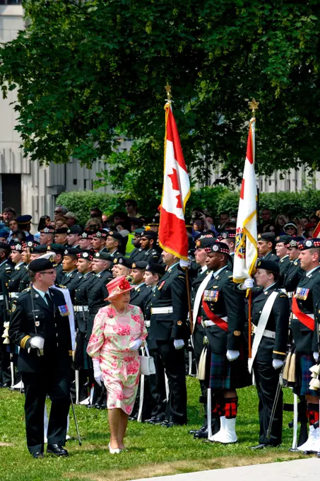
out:
M91 207L99 207L107 214L115 210L124 210L124 197L121 194L103 194L91 190L81 192L63 192L57 198L57 204L62 204L69 211L78 214L79 222L84 224L88 220ZM140 204L142 204L140 202ZM194 207L208 209L213 216L226 211L229 214L237 212L239 192L227 187L202 187L192 190L187 203L186 219ZM284 213L289 216L309 216L320 209L320 190L302 190L302 192L262 192L259 195L259 209L271 209L273 216ZM153 207L148 208L148 199L143 203L141 212L146 216L153 216Z

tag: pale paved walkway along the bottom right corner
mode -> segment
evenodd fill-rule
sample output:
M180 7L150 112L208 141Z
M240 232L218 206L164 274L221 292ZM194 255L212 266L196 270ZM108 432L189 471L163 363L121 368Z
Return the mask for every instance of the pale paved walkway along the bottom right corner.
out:
M319 481L320 459L297 459L283 461L283 463L256 464L182 475L146 477L139 481L220 481L221 479L223 481Z

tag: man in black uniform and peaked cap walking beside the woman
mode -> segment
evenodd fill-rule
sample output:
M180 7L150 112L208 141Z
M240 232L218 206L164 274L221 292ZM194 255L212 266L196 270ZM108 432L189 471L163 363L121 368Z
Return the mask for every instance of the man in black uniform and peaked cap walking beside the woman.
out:
M25 388L25 427L28 450L34 458L44 451L45 399L52 401L47 453L68 456L64 449L70 405L71 332L64 295L54 284L52 262L30 262L27 289L14 299L9 336L20 347L18 369Z

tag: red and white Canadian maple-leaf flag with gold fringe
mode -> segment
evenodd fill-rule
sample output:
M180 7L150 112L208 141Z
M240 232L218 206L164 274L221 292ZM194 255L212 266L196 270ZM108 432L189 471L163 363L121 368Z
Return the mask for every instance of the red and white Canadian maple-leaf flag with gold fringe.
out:
M159 243L180 259L188 258L188 236L184 222L190 180L182 153L171 102L165 105L165 171L160 206Z

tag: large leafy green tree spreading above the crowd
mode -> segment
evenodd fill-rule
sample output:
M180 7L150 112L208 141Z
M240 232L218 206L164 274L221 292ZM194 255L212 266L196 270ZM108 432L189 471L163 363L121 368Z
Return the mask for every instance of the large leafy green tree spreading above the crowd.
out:
M317 0L25 0L28 28L0 51L18 88L17 129L32 160L90 166L125 192L160 197L164 86L172 84L196 179L242 175L247 100L260 101L259 173L319 168ZM136 139L114 153L115 139ZM158 199L157 199L158 202Z

